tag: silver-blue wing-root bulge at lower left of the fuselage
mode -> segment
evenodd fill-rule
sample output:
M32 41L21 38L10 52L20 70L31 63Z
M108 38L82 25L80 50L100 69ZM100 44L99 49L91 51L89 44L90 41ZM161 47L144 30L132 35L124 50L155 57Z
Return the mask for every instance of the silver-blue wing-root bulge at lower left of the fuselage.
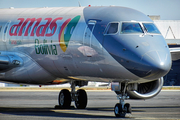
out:
M56 79L30 56L17 52L1 52L0 69L0 80L6 82L51 84Z

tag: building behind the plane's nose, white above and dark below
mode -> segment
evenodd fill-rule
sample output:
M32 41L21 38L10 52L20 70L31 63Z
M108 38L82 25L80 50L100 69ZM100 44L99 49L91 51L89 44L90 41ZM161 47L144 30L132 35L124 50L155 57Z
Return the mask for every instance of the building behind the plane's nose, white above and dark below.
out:
M170 47L180 47L180 20L154 20ZM180 60L172 62L172 68L164 76L164 86L180 86Z

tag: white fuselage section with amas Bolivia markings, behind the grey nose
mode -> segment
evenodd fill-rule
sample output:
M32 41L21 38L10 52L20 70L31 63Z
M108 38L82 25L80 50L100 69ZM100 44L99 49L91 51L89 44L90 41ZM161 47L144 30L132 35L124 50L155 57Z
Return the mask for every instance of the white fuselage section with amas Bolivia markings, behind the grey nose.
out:
M99 40L97 33L104 36L107 19L87 19L84 9L1 9L0 61L9 62L2 65L6 69L0 79L29 84L53 84L56 79L142 82ZM15 60L20 64L13 65Z

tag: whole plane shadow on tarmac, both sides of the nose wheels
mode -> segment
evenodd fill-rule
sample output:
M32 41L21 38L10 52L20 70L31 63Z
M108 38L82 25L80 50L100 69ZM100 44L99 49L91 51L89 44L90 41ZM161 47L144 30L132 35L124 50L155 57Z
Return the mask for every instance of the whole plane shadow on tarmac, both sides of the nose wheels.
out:
M157 107L132 107L133 112L147 112L145 109L151 108L180 108L180 106L157 106ZM1 114L10 114L18 116L38 116L38 117L62 117L62 118L115 118L113 107L93 107L85 110L81 109L55 109L55 108L13 108L0 107ZM95 114L104 111L102 114ZM112 115L106 113L112 112Z

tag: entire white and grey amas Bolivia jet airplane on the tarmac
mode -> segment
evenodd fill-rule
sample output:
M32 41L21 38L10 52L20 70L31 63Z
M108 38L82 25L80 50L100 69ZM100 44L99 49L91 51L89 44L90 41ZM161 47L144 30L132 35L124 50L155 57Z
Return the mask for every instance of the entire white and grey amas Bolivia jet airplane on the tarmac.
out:
M176 50L174 50L177 52ZM172 56L173 57L173 56ZM88 81L111 83L116 117L131 114L126 99L148 99L171 69L170 49L145 14L120 6L0 9L0 80L71 84L60 108L85 109Z

